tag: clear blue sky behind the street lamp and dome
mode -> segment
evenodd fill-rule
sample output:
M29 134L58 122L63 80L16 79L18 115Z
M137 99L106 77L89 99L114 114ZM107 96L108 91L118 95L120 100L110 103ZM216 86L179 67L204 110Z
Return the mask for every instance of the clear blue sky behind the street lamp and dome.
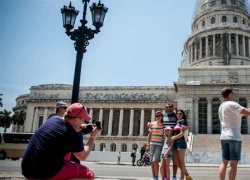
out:
M80 11L82 0L71 0ZM89 6L98 0L91 0ZM101 32L84 54L81 86L172 86L191 34L196 0L102 0ZM60 9L69 0L0 0L0 94L3 108L31 86L73 84L73 41ZM92 27L90 11L88 26Z

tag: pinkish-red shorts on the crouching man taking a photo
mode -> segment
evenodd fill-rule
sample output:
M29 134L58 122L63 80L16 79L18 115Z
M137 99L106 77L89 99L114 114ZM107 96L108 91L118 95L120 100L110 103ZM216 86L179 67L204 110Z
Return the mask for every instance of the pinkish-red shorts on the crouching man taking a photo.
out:
M86 166L65 160L61 171L58 172L53 178L49 178L48 180L62 180L72 178L93 179L94 173Z

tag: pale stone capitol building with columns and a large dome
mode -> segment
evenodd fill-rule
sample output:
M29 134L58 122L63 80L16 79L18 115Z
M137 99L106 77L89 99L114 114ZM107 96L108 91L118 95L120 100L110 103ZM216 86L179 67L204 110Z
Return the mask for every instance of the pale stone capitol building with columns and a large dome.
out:
M166 103L173 103L188 115L190 151L202 152L197 143L202 148L205 139L210 138L210 144L219 146L213 139L219 141L218 107L223 101L223 87L232 87L236 101L250 107L248 1L198 0L191 27L173 86L80 87L79 102L86 105L93 123L100 120L103 125L94 151L140 149L146 144L147 123L154 121L155 111L164 112ZM56 102L70 104L71 93L72 85L43 84L18 96L13 110L24 107L27 112L20 131L34 132L55 111ZM243 117L241 132L249 139L250 117ZM206 148L220 151L219 147ZM250 147L243 147L243 152L250 152Z

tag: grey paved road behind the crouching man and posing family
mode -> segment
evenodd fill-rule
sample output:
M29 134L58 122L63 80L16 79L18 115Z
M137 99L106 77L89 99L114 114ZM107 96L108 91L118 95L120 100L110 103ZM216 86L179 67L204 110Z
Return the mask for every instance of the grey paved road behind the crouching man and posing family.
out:
M130 164L116 165L114 163L82 162L95 172L97 180L149 180L150 167L131 166ZM187 169L194 180L218 179L219 165L188 164ZM0 179L20 180L20 161L0 161ZM237 180L249 180L249 165L240 165Z

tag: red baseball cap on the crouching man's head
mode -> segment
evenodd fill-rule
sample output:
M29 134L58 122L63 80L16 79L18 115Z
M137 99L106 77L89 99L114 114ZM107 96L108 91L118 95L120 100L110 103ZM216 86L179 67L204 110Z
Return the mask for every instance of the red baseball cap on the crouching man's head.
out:
M91 116L88 114L87 108L80 103L71 104L67 108L66 114L68 116L75 117L75 118L76 117L83 118L84 120L88 122L91 120Z

